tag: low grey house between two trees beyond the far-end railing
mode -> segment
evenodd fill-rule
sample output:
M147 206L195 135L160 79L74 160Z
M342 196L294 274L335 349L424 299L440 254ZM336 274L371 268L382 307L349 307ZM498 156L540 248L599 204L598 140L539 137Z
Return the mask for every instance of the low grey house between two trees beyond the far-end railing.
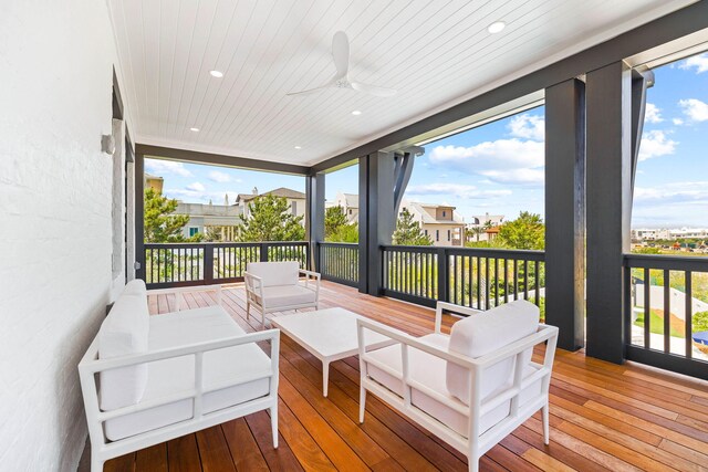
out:
M232 204L185 203L179 202L175 214L188 214L189 222L183 229L185 238L214 230L221 234L223 242L236 241L236 227L239 224L241 208Z

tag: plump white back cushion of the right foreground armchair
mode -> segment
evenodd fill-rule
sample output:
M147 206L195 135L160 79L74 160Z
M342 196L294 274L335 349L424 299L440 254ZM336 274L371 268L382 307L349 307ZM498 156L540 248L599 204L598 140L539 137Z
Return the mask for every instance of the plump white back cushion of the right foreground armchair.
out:
M510 302L478 315L472 315L452 325L449 350L476 358L501 349L539 328L539 307L524 300ZM531 360L532 349L524 353L523 365ZM514 357L488 367L482 374L481 398L513 380ZM469 401L470 373L468 369L447 364L448 391L460 401Z

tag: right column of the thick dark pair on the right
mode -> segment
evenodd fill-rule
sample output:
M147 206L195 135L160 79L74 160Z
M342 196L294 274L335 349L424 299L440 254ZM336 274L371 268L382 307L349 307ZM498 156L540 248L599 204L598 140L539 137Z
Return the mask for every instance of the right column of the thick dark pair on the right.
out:
M625 359L623 254L632 206L631 71L615 62L586 75L589 356Z

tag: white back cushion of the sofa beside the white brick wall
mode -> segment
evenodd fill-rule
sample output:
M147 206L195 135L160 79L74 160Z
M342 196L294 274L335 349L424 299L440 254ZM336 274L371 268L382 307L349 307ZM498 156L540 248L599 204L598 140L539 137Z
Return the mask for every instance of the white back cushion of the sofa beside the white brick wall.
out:
M149 312L147 296L139 285L136 283L131 287L126 286L103 321L98 332L100 359L147 352ZM143 398L147 386L147 364L105 370L100 377L101 409L105 411L127 407Z

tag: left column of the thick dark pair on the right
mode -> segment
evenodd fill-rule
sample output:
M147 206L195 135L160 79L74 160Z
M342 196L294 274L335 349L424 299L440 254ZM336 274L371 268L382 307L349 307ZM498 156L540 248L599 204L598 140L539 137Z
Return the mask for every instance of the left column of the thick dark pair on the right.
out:
M585 84L545 90L545 321L558 346L585 337Z

